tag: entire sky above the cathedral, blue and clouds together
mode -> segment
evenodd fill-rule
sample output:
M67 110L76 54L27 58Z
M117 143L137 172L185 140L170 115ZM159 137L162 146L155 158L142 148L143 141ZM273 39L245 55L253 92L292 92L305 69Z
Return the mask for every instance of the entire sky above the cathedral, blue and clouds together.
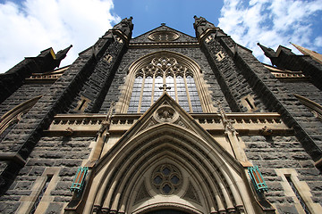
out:
M256 45L305 46L322 53L322 0L0 0L0 73L36 56L73 45L62 63L93 45L106 30L133 17L133 37L161 23L195 36L193 16L203 16L269 63Z

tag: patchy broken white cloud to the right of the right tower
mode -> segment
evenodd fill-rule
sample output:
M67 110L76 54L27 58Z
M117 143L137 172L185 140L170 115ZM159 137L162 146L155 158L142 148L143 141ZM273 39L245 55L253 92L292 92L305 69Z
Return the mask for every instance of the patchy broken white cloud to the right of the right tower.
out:
M233 39L253 50L262 62L269 63L258 42L276 49L278 45L292 48L292 42L310 49L322 45L322 37L312 38L316 12L321 1L301 0L224 0L218 27Z

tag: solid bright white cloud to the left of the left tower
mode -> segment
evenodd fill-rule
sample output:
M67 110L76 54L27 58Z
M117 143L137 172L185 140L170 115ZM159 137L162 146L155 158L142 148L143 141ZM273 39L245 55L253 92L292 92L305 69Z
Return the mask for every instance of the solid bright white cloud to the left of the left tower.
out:
M0 72L26 56L73 45L62 65L93 45L120 17L112 0L27 0L0 4Z

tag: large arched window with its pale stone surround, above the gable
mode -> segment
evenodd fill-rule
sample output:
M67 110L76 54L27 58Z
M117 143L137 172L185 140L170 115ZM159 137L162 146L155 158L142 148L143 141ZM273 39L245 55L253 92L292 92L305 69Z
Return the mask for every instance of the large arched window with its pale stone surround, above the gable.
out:
M158 52L131 65L121 112L147 111L163 95L163 86L185 111L212 111L197 63L178 53Z

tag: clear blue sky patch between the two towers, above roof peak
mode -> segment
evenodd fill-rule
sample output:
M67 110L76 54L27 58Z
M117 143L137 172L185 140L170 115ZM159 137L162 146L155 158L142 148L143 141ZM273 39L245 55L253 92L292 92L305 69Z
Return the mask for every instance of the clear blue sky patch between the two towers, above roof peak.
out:
M114 12L121 17L133 17L133 37L155 29L161 23L194 37L193 16L212 17L217 25L223 5L221 0L116 0Z

